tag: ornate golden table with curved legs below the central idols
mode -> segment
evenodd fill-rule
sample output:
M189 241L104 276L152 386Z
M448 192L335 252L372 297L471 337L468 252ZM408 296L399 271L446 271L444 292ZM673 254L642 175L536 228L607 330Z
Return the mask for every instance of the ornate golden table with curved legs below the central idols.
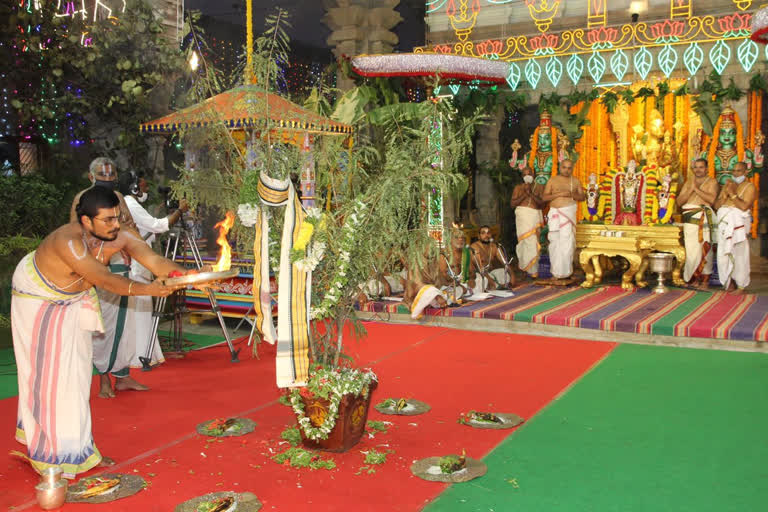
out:
M677 286L685 284L681 277L685 264L685 246L682 242L683 228L680 225L620 226L607 224L577 224L576 249L580 250L579 264L586 279L581 284L591 288L600 284L603 265L600 257L621 256L629 262L629 268L622 274L621 286L630 290L635 286L644 288L645 271L648 268L648 254L669 252L675 255L672 282Z

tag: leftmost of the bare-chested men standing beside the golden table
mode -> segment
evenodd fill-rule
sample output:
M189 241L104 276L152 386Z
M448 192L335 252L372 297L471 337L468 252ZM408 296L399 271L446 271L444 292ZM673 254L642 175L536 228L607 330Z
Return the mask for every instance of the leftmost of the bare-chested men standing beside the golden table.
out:
M520 270L532 278L539 276L539 232L544 225L541 209L544 201L541 193L544 187L533 180L533 170L523 167L523 183L512 191L510 204L515 209L515 226L517 228L517 262Z

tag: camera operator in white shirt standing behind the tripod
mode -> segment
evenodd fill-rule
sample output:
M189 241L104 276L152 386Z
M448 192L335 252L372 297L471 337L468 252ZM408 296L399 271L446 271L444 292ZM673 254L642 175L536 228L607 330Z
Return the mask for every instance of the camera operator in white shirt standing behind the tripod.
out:
M187 200L180 199L178 209L167 217L156 218L150 215L142 206L149 198L149 184L144 179L144 176L141 173L128 171L122 174L120 178L120 192L125 197L125 204L131 212L131 217L139 230L139 235L146 241L147 245L152 247L155 235L168 231L171 226L181 219L184 212L189 209ZM152 273L136 260L131 261L129 277L140 283L152 281ZM128 365L131 368L143 367L139 359L140 357L148 358L150 365L160 364L165 360L160 343L157 340L157 333L155 333L155 339L151 339L152 310L152 297L137 295L128 299L125 316L125 324L128 328L123 329L123 335L118 346L133 347L133 354L128 354L130 357ZM133 337L133 339L128 339L128 337ZM150 345L152 346L151 354L148 353ZM115 388L117 390L123 389L124 380L116 379L116 381Z

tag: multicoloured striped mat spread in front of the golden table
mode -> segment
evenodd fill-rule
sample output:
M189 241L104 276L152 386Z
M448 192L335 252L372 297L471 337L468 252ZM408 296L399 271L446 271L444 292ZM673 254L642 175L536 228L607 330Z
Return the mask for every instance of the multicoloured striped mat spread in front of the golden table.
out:
M493 318L602 331L768 341L768 296L670 288L666 294L647 289L607 286L525 285L514 297L470 302L427 315ZM408 314L400 302L370 302L363 311Z

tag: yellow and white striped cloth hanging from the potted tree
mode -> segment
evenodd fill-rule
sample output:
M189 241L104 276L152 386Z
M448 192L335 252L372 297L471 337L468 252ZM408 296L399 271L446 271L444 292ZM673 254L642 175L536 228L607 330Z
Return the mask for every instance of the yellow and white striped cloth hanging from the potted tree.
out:
M299 236L306 212L290 179L277 180L263 172L259 197L266 206L285 206L280 250L277 298L277 333L272 324L272 297L269 293L269 224L259 208L254 241L253 302L256 328L269 343L277 340L277 385L297 387L307 383L309 373L309 308L312 272L291 263L291 249Z

